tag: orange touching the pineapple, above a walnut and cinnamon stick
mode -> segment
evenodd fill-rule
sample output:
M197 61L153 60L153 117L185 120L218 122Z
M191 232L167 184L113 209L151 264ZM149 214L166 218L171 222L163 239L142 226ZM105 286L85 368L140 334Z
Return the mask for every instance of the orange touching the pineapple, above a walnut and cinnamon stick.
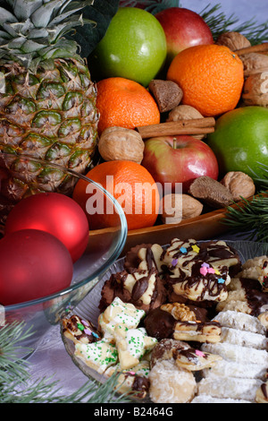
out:
M155 99L138 82L111 77L97 82L96 89L96 107L100 113L99 134L111 126L134 129L160 122Z

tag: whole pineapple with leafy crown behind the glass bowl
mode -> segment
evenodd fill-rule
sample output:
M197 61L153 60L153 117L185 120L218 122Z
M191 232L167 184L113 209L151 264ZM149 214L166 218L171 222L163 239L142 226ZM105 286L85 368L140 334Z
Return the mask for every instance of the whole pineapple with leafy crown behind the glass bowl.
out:
M12 177L2 183L8 201L1 201L1 211L25 195L68 194L73 187L60 169L30 159L23 163L18 155L79 173L92 162L99 120L96 86L77 43L64 38L85 23L80 11L91 3L0 0L0 158L1 151L14 157L5 159Z

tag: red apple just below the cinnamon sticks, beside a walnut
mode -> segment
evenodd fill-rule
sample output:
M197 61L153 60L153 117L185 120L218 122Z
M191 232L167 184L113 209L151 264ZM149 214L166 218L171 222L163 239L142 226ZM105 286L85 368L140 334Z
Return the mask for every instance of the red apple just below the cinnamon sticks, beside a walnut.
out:
M205 142L187 135L148 139L141 165L163 189L165 183L170 183L174 191L175 183L181 183L183 193L198 176L210 176L216 180L219 175L214 151Z

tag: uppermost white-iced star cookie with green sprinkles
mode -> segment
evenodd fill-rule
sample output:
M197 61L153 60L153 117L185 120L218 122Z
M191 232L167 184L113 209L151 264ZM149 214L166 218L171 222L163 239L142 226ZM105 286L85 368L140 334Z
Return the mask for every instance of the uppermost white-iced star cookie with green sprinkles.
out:
M105 339L113 342L113 333L117 325L123 325L129 329L136 328L144 316L143 310L138 310L130 303L123 303L117 296L105 312L99 315L99 330L102 331Z

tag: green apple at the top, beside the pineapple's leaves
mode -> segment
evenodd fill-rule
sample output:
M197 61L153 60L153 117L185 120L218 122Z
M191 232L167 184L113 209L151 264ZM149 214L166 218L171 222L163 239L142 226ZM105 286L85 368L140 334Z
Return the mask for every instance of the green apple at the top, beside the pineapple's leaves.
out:
M93 78L120 76L147 87L163 68L166 39L155 16L136 7L122 7L105 37L89 57Z

